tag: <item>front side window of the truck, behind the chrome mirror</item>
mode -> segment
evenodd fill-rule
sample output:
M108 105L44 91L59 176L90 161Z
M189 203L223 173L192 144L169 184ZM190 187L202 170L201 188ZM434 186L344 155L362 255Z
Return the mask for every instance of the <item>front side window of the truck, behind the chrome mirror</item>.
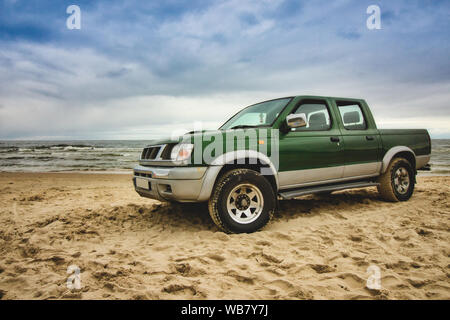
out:
M331 128L330 113L325 103L302 103L295 113L304 113L307 125L292 131L324 131Z

